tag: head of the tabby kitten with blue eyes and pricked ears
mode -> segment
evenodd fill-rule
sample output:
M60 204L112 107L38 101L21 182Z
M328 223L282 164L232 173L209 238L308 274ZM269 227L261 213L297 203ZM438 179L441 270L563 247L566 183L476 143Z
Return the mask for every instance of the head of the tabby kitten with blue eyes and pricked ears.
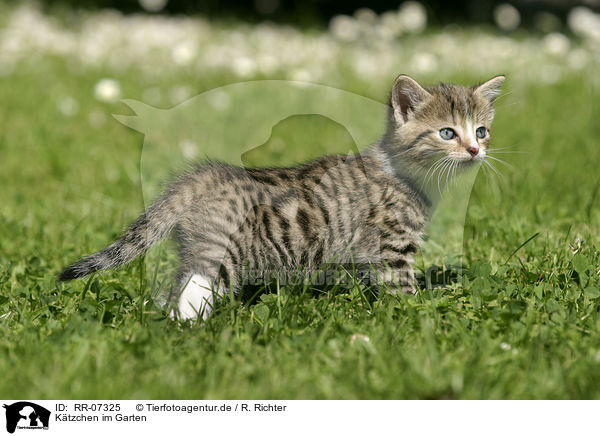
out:
M481 162L503 82L504 76L496 76L472 88L447 84L423 88L408 76L398 77L388 126L388 138L398 147L394 154L423 171L441 159L456 167Z

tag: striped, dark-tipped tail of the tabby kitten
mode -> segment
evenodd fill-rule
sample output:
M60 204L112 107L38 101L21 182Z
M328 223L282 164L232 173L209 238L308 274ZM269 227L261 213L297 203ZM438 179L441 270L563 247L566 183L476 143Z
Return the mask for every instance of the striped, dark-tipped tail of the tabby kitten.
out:
M157 199L127 229L125 234L105 249L90 254L69 265L58 276L60 281L78 279L96 271L116 268L143 254L163 239L173 226L181 211L181 202L174 192Z

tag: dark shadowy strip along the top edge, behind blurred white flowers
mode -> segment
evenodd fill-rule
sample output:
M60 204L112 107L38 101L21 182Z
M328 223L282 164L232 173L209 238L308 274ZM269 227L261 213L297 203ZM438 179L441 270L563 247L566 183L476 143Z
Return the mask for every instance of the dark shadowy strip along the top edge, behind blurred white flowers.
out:
M167 14L202 14L210 18L231 18L250 21L274 20L290 24L307 26L326 26L336 15L352 15L357 10L376 14L394 11L398 1L375 0L49 0L49 7L78 7L86 9L111 8L124 13L150 12ZM492 24L502 4L510 4L518 11L520 21L528 26L544 29L564 25L569 11L576 6L598 10L598 0L430 0L422 2L431 23L469 23ZM368 8L365 6L368 5ZM368 9L368 10L367 10ZM506 9L506 8L505 8ZM388 18L389 19L389 18Z

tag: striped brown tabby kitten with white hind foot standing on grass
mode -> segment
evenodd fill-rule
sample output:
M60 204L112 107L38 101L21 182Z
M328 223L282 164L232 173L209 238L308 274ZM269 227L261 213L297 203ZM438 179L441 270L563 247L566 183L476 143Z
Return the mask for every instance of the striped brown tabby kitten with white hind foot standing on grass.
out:
M174 318L206 318L227 290L239 293L249 271L314 271L329 262L367 265L387 292L414 293L411 264L441 194L439 173L485 158L503 82L425 89L399 76L387 130L364 152L293 168L200 165L59 280L123 265L173 231L181 262Z

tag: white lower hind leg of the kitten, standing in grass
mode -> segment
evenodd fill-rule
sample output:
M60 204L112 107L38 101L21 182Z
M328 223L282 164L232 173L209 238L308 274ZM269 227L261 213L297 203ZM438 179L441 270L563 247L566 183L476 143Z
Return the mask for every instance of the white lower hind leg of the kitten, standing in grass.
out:
M223 286L214 280L198 273L188 274L179 291L172 295L171 304L175 307L169 316L179 320L205 320L223 295Z

